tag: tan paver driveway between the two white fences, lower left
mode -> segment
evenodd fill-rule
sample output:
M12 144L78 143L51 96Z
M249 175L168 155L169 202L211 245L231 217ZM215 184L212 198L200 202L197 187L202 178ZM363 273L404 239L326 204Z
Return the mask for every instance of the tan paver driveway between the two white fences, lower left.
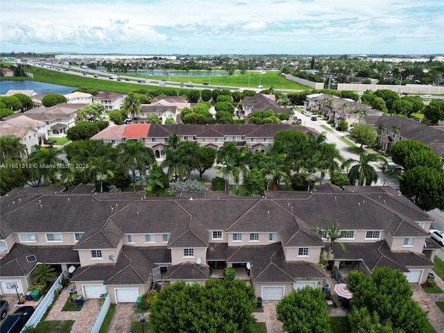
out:
M62 293L60 293L51 311L49 311L46 321L74 321L71 333L91 332L96 322L96 316L100 311L100 300L87 300L80 311L62 311L62 307L67 302L69 289L71 287L74 287L74 284L66 287Z

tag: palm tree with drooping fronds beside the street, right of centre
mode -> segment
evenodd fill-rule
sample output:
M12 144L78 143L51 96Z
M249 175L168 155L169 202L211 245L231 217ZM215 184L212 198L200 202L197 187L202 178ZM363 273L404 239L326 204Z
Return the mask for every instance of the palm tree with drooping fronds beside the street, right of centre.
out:
M375 153L367 153L360 147L350 147L349 151L359 155L359 160L350 158L343 163L343 167L350 167L350 164L355 164L350 168L348 173L350 185L370 186L373 182L376 182L378 179L377 172L370 165L370 162L384 162L384 156Z

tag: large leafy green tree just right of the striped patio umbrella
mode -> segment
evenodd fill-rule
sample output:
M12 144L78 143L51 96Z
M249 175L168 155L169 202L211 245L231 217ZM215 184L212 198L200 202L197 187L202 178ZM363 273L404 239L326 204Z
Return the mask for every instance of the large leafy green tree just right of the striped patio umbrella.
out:
M374 268L371 278L362 271L351 271L348 289L353 293L352 309L366 307L368 314L376 315L382 325L389 327L392 323L394 332L426 332L427 313L418 302L411 300L413 291L401 271L388 267ZM361 316L356 311L350 313L350 323L356 323L353 316L357 315Z

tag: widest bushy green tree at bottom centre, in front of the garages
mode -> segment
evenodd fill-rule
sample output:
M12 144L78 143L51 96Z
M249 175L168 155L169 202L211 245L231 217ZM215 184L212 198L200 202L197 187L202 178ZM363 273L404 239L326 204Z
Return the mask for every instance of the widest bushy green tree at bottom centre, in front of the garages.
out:
M253 289L238 279L170 284L151 306L151 332L253 333L252 298Z

